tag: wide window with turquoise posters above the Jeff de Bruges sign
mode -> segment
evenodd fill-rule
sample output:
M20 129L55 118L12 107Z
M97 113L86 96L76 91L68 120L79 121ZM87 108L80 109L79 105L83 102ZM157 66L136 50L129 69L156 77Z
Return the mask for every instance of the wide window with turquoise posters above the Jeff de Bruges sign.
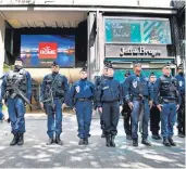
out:
M171 44L168 18L106 17L107 43Z

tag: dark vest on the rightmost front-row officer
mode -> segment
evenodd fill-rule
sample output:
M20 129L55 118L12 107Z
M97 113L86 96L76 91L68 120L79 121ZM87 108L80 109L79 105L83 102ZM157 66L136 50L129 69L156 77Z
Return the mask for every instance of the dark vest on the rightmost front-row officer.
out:
M160 96L171 96L175 99L178 98L177 80L175 78L166 78L164 76L161 76L160 80Z

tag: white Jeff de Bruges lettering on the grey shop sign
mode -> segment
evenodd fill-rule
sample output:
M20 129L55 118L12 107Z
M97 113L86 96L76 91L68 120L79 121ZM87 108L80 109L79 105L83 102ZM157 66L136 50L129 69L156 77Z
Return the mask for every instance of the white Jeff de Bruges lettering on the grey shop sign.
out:
M133 47L128 47L128 48L121 48L121 52L120 52L120 56L124 56L126 54L131 54L131 55L161 55L161 51L160 50L146 50L145 47L139 47L138 49L133 49Z

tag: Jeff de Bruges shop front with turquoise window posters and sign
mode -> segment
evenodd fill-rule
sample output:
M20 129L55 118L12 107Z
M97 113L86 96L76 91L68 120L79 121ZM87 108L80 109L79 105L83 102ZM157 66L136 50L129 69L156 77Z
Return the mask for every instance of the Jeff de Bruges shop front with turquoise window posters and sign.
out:
M175 74L175 49L170 18L104 16L104 57L112 62L115 78L122 81L133 63L142 65L142 74L161 76L163 64L170 63Z

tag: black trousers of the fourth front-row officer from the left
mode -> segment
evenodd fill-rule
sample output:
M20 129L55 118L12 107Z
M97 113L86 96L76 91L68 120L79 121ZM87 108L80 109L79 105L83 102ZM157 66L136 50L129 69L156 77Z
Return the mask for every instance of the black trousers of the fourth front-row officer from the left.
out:
M120 104L117 101L102 104L103 132L106 136L117 134Z

